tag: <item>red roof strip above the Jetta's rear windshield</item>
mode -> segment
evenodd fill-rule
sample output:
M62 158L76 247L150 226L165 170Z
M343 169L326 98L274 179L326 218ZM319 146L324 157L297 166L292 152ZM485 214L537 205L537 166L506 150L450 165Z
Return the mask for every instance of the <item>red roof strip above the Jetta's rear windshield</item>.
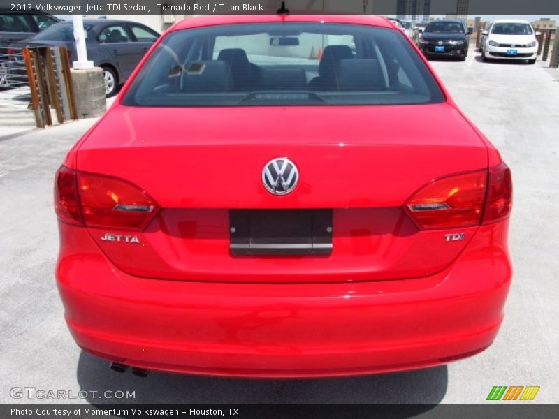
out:
M365 24L393 29L393 25L385 17L370 15L214 15L191 17L189 19L180 20L180 22L175 23L169 30L180 31L182 29L215 26L219 24L275 22L328 22Z

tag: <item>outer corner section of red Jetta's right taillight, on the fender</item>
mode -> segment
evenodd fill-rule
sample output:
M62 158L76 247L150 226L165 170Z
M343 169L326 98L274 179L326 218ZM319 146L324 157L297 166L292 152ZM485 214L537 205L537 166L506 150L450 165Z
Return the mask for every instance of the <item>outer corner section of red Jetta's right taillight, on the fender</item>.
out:
M504 163L489 169L487 199L484 224L500 221L511 212L512 180L511 170Z

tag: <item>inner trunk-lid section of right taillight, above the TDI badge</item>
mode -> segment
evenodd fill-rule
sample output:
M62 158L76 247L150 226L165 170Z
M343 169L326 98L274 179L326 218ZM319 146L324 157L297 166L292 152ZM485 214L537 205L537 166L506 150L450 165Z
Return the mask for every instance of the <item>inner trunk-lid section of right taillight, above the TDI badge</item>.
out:
M422 230L479 226L487 170L435 179L407 200L405 208Z

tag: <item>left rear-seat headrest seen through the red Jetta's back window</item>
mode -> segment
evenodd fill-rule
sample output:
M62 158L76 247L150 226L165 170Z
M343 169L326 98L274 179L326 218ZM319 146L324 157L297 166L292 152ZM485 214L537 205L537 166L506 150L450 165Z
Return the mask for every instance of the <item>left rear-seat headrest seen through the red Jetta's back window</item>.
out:
M198 67L198 71L189 71L190 68L195 67ZM184 64L182 91L196 93L231 91L232 89L231 68L225 61L201 60Z

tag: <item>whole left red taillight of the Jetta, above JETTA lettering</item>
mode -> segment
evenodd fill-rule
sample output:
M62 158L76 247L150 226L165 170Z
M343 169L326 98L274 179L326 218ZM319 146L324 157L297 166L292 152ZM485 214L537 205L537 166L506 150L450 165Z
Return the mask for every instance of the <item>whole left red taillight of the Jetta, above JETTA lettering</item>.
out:
M147 192L130 182L64 166L57 172L55 198L61 221L87 227L143 230L159 209Z

